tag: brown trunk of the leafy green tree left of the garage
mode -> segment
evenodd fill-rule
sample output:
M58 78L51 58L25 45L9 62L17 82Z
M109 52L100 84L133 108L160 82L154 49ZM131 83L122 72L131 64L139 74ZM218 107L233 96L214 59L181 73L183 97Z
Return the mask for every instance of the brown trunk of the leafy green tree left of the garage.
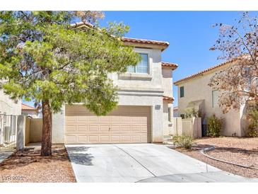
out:
M41 156L52 155L52 111L49 101L42 101L42 144L41 144Z

